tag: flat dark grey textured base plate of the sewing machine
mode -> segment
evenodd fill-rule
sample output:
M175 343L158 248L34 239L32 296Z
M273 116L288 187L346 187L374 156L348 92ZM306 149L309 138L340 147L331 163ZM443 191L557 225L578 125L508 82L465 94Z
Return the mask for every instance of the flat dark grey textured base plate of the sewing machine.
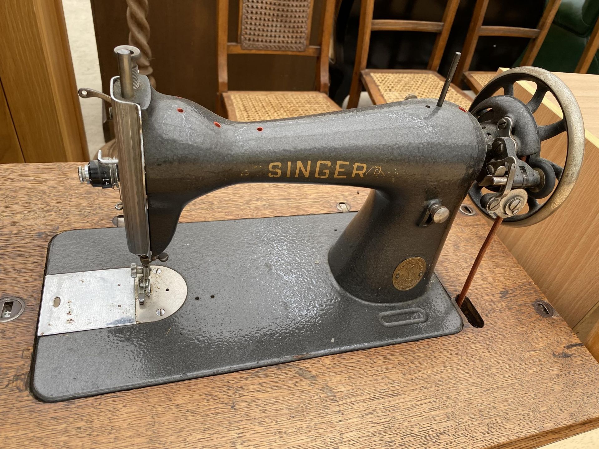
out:
M56 402L457 333L437 277L410 302L373 304L341 289L327 262L355 214L180 224L165 265L187 283L161 321L38 336L32 393ZM135 262L123 228L72 230L46 274ZM398 261L401 262L401 261ZM389 274L391 282L391 274Z

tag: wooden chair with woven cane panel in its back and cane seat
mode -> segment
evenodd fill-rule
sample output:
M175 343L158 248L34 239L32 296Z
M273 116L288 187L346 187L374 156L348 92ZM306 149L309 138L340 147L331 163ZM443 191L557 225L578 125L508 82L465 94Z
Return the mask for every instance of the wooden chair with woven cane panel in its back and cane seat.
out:
M329 45L334 0L323 0L319 45L310 45L314 0L240 0L237 42L228 42L229 0L217 3L217 112L231 120L282 119L340 109L328 97ZM316 90L309 92L235 91L228 89L229 54L313 56Z

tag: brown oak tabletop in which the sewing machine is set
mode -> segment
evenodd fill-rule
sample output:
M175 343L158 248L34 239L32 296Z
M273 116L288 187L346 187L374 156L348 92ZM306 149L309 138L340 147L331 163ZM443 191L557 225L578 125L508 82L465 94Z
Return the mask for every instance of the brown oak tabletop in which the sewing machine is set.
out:
M75 163L0 166L0 445L22 447L531 448L599 425L599 366L500 241L469 296L483 329L58 404L28 390L46 248L110 227L118 194ZM354 187L244 184L190 204L184 222L357 210ZM437 275L457 295L488 226L458 214ZM67 337L65 337L67 338Z

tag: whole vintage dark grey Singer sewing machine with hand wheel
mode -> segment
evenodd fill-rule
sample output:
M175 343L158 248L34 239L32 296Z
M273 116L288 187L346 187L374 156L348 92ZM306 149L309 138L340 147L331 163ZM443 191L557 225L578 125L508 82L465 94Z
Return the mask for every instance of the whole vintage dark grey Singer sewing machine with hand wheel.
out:
M576 100L539 68L498 75L469 112L412 98L238 123L156 92L137 56L117 47L110 96L80 90L111 104L118 146L80 180L119 189L124 227L50 243L32 375L43 401L457 333L462 315L434 268L465 196L504 225L532 225L582 163ZM518 80L537 84L526 104ZM546 92L564 118L538 127ZM563 168L540 157L561 132ZM373 190L358 213L177 226L187 203L235 183Z

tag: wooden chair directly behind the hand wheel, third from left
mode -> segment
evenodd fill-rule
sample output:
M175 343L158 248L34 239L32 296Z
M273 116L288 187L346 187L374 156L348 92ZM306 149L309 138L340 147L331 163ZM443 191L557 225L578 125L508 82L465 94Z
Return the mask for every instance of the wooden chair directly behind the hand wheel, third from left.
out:
M559 3L561 0L549 0L545 6L543 16L539 21L537 28L521 28L518 26L491 26L483 25L483 19L485 19L485 13L489 5L489 0L477 0L474 6L474 13L472 20L470 21L470 27L468 28L468 34L462 49L462 57L459 60L458 68L455 71L453 79L456 83L459 83L462 79L462 75L466 81L466 84L474 91L478 93L482 86L492 80L495 77L495 72L485 71L469 71L474 50L476 49L476 43L480 36L503 36L503 37L522 37L530 38L530 43L520 65L527 66L533 65L534 59L537 57L537 53L543 45L543 41L549 31L549 27L553 22L553 17L557 13Z

